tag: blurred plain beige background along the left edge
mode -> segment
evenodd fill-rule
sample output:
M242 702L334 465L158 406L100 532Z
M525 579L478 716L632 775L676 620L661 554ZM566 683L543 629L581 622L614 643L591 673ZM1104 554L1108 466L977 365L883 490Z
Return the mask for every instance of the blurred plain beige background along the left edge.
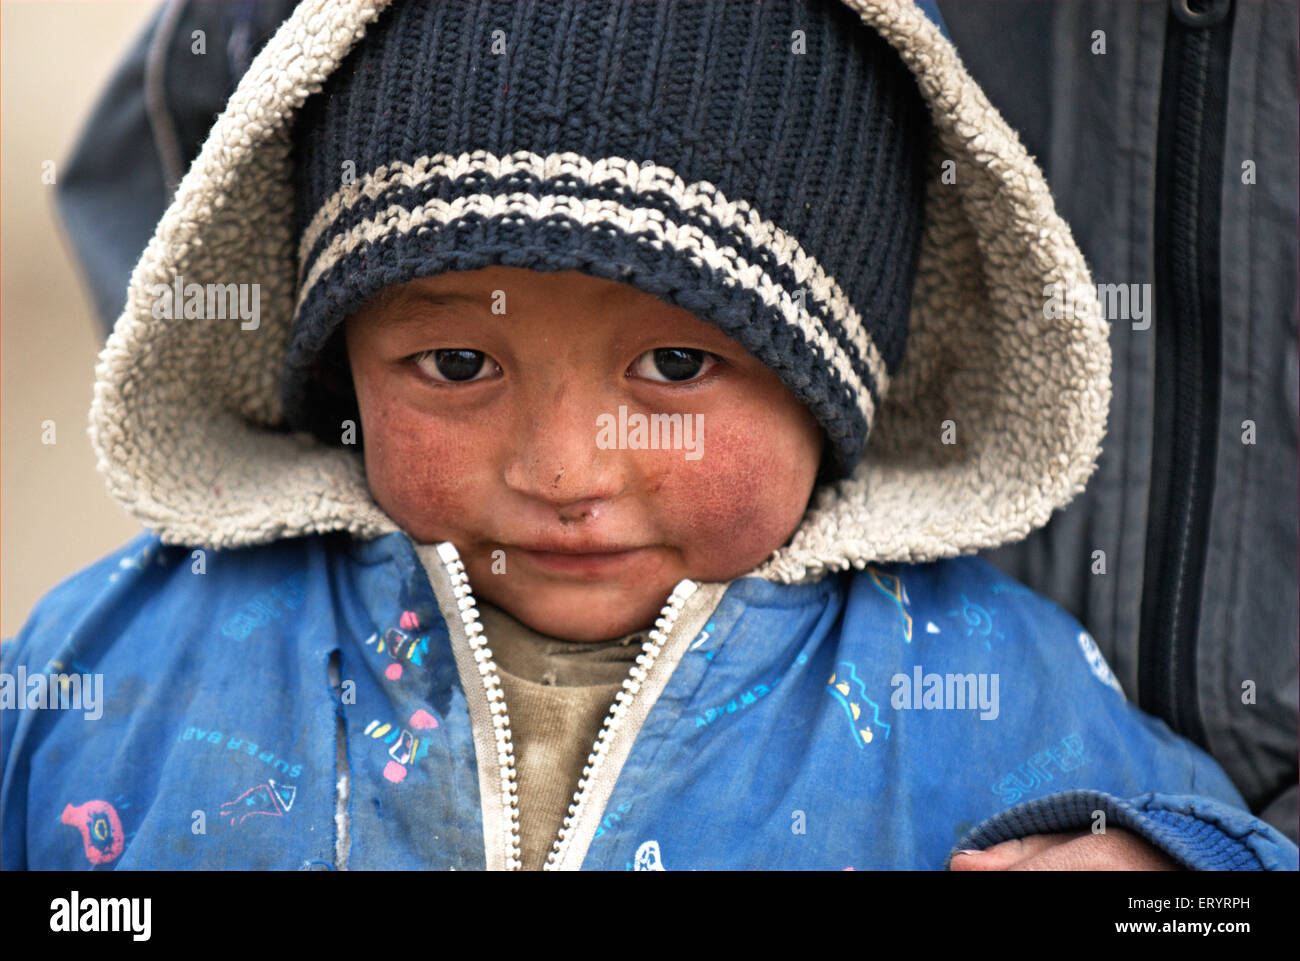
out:
M105 82L156 9L152 0L0 4L4 637L49 588L140 531L95 471L86 427L103 333L46 181L61 174ZM53 443L42 442L47 421Z

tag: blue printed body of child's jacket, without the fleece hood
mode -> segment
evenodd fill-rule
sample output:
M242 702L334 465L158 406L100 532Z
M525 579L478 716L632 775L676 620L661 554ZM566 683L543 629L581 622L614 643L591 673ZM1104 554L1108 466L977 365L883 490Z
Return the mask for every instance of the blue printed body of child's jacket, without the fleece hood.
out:
M4 711L3 866L508 863L512 772L441 550L430 583L402 533L208 554L146 534L60 585L4 670L23 696L101 675L101 701L83 683L81 710ZM939 869L1121 826L1187 867L1296 867L1072 618L979 558L680 596L560 866Z

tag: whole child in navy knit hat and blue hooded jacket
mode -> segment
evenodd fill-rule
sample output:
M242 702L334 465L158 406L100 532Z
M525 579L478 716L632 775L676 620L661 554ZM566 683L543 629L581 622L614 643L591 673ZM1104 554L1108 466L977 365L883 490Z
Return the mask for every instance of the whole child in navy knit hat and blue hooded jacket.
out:
M136 267L151 533L5 652L104 684L5 715L5 867L1296 866L963 557L1109 352L919 9L376 8L295 10Z

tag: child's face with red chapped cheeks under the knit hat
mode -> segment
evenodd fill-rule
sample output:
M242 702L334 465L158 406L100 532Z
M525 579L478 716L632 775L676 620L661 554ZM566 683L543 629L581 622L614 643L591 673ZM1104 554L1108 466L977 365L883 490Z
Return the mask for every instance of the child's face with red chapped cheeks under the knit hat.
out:
M534 631L647 627L679 580L749 571L807 506L812 415L716 326L634 287L439 274L387 289L346 338L376 501L417 544L455 544L476 594ZM702 436L611 449L620 406L625 447L637 414Z

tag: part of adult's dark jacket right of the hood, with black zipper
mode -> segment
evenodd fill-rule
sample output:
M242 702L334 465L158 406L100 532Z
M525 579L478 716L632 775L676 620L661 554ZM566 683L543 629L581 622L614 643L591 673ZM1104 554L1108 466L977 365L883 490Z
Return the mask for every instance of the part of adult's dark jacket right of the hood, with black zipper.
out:
M1297 5L939 7L1093 280L1153 296L1147 320L1102 296L1114 394L1087 492L985 557L1295 839Z

